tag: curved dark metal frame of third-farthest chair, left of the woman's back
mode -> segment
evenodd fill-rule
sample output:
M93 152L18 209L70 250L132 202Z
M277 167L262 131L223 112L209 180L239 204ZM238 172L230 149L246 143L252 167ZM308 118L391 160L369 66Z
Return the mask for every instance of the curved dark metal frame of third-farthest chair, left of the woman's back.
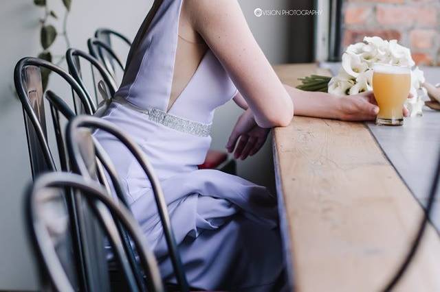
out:
M87 91L87 88L85 88L85 83L83 81L83 77L81 76L80 68L78 68L78 65L77 65L78 58L83 58L83 59L87 60L91 64L92 69L95 68L98 70L98 72L102 76L102 80L104 80L105 84L107 85L107 88L109 88L109 90L110 90L109 96L107 98L113 97L113 95L115 95L115 92L118 88L115 84L115 80L110 75L107 68L102 66L101 62L97 58L95 58L94 56L91 56L89 53L86 53L85 51L81 51L79 49L68 49L66 52L66 60L67 60L67 66L69 66L69 72L70 72L70 74L72 74L72 76L74 77L76 82L78 82L78 84L80 84L80 86L83 88L83 90L85 90L85 93L89 96L89 100L91 100L91 97ZM93 71L92 71L92 74L93 74ZM94 74L93 74L93 78L95 81ZM96 90L96 88L94 88L94 90L95 90L96 104L98 104L98 90L100 90L100 89L98 88L98 90ZM106 97L104 95L102 97L104 99L106 99Z

